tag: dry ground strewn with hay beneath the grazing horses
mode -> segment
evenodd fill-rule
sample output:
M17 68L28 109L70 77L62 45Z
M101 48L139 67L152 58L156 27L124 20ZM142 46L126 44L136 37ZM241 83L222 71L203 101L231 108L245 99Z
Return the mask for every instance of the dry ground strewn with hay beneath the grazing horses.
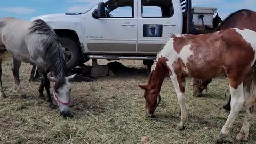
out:
M94 82L73 82L70 109L74 118L64 119L58 109L50 110L38 97L40 82L28 82L30 65L22 64L20 69L21 85L28 95L22 100L15 90L12 62L3 62L2 81L9 98L0 101L0 143L211 143L226 122L228 113L221 111L229 99L225 77L213 79L202 98L193 97L192 81L187 79L188 124L185 130L177 131L179 104L170 78L164 80L156 118L149 119L144 114L143 90L138 87L147 82L146 67L139 60L121 63L135 71L100 77ZM237 117L226 143L235 142L244 113L242 110ZM247 143L256 143L255 129L253 115ZM141 141L142 137L149 141Z

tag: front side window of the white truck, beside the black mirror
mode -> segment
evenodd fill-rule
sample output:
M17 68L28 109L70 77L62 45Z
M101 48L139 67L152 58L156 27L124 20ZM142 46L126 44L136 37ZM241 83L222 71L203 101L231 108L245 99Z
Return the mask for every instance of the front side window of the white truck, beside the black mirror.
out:
M106 18L133 18L133 0L110 0L105 3Z

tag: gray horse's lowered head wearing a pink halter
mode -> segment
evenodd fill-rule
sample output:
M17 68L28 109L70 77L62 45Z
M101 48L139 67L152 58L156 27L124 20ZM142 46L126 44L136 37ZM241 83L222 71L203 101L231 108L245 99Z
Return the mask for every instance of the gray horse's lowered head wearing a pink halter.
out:
M53 90L53 97L57 101L58 107L60 109L60 115L66 117L69 115L69 103L70 103L70 92L71 92L71 84L69 81L74 78L76 74L65 77L65 83L59 87L58 89ZM49 77L49 79L53 82L57 81L55 77Z

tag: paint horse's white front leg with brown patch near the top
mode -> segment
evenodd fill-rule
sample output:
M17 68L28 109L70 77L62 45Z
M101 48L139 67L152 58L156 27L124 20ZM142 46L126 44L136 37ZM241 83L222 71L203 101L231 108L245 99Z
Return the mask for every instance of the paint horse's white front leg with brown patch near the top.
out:
M188 116L185 108L185 79L182 77L177 77L176 75L171 75L172 83L175 87L177 98L180 104L180 123L176 126L177 130L183 130L184 125L188 122Z

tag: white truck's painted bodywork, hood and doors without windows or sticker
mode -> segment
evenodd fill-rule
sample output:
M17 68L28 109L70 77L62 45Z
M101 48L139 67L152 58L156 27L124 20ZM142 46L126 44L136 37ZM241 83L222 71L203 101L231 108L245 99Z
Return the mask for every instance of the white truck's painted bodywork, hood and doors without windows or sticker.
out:
M172 34L182 33L183 18L180 1L169 1L172 1L174 11L170 18L142 18L141 1L134 0L133 18L94 19L92 12L97 9L97 4L85 14L42 15L32 18L31 21L43 19L54 30L75 31L79 42L83 45L82 51L87 55L95 53L154 55L161 50L161 45L164 45ZM144 24L163 25L163 36L144 37ZM155 49L157 46L158 48Z

